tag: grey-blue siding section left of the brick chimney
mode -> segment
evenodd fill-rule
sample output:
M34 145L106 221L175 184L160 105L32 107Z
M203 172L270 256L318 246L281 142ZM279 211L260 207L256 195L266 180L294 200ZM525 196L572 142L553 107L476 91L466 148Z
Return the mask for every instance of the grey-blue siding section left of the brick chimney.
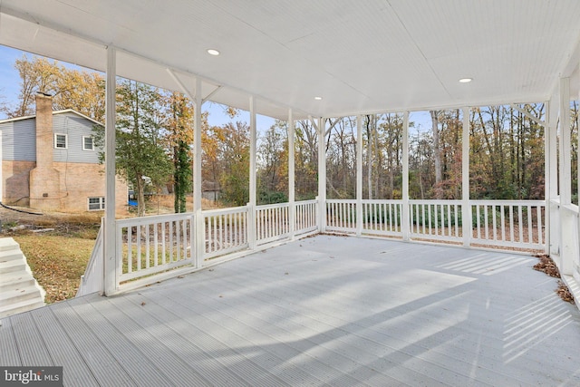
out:
M34 122L34 118L31 118L0 124L3 160L36 160L36 131Z

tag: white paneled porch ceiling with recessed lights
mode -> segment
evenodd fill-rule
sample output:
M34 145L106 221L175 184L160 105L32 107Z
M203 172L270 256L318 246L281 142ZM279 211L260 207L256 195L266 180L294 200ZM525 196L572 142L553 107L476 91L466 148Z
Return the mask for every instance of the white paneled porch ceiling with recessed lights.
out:
M577 95L579 42L578 0L0 0L0 44L276 118Z

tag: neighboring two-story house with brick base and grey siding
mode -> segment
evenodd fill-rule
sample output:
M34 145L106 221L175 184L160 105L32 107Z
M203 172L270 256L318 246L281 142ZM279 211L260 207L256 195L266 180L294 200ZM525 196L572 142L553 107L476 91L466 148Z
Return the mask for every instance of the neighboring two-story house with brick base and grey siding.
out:
M0 201L46 211L104 209L105 175L92 138L102 125L73 110L53 111L52 97L36 95L36 115L0 121ZM117 179L116 208L127 204Z

